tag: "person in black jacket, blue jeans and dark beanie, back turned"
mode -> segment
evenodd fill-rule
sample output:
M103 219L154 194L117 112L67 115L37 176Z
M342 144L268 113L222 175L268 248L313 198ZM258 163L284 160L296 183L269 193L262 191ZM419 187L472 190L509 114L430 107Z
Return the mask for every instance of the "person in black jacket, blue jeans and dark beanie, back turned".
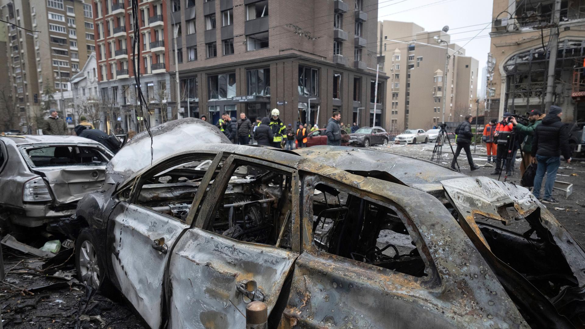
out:
M571 163L569 132L567 126L560 122L562 115L562 108L552 105L549 113L542 119L542 124L534 129L532 137L532 156L538 162L532 194L541 200L542 179L546 173L545 197L542 198L542 203L558 204L552 197L552 187L560 166L560 155L565 157L567 163Z

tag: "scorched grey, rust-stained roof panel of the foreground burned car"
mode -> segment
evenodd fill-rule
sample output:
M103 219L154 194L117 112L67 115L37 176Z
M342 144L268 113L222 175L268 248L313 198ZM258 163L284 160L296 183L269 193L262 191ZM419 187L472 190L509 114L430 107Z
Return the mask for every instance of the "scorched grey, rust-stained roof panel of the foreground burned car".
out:
M324 165L361 176L402 183L423 191L442 190L442 180L468 177L428 160L383 150L320 145L293 152ZM380 173L390 174L390 177L380 177Z

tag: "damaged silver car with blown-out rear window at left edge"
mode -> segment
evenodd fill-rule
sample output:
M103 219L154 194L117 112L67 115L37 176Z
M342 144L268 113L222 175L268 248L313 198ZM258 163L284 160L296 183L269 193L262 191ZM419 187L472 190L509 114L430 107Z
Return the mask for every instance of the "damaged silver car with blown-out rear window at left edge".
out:
M0 136L0 225L40 227L74 214L85 194L104 189L112 156L77 136Z

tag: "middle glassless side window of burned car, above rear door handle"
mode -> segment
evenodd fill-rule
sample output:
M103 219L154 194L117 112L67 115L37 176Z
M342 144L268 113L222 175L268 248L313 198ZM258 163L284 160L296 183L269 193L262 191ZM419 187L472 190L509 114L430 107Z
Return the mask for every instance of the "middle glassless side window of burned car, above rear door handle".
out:
M291 250L292 177L240 165L230 174L210 231L239 241Z

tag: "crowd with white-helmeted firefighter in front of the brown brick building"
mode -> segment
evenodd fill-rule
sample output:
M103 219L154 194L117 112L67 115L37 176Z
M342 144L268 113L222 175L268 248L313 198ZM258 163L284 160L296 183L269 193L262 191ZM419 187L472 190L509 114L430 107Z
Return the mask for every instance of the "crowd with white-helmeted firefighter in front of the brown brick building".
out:
M204 116L202 120L207 121ZM352 126L340 122L341 114L333 112L327 122L325 135L327 136L327 145L341 145L341 131L352 133L359 129L355 123ZM270 118L257 118L256 122L251 122L244 112L240 113L240 119L230 117L228 112L222 114L216 126L226 137L235 144L247 145L256 142L258 145L272 146L273 148L285 148L292 150L295 148L307 147L307 138L309 133L318 131L319 126L308 124L298 124L295 130L292 124L285 125L280 119L280 111L273 109L270 112Z

